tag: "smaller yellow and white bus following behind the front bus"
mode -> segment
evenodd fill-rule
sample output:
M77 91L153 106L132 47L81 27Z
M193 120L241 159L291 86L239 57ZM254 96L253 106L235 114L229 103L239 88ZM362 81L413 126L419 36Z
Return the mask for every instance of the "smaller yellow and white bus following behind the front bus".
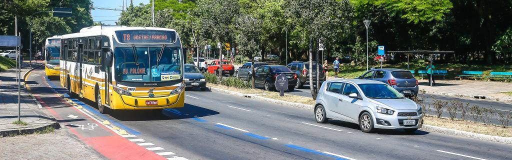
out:
M45 42L45 72L49 79L58 79L60 75L60 35L46 38Z

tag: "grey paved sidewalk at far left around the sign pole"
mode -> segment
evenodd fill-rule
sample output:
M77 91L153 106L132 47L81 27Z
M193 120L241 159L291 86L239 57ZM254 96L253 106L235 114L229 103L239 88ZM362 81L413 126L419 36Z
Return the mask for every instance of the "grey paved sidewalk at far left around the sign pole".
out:
M32 67L42 64L33 63ZM51 116L42 111L35 99L25 89L24 74L29 71L28 63L23 63L22 89L20 96L21 119L27 125L15 125L18 120L18 84L16 82L16 69L9 69L0 73L0 137L19 133L33 133L44 130L48 126L58 127L58 123ZM42 75L41 75L42 76Z

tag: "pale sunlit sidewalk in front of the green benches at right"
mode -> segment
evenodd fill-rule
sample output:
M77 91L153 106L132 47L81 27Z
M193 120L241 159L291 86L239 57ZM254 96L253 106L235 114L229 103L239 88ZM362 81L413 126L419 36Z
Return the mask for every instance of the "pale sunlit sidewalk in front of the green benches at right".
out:
M419 80L419 90L431 94L512 102L512 96L503 93L512 92L512 83L436 79L436 86L430 87L428 80Z

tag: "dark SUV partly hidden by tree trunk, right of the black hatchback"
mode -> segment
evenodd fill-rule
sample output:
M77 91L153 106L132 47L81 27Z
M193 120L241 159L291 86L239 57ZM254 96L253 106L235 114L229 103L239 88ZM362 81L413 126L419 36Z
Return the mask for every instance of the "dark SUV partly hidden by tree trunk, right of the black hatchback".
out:
M295 85L295 88L301 89L304 84L309 83L309 62L301 62L301 61L294 61L290 64L286 65L286 67L290 68L292 72L297 74L297 85ZM313 68L316 66L313 66ZM319 80L320 82L325 81L325 74L323 72L322 66L319 66ZM313 75L313 78L315 78L315 75ZM322 83L321 83L322 84Z

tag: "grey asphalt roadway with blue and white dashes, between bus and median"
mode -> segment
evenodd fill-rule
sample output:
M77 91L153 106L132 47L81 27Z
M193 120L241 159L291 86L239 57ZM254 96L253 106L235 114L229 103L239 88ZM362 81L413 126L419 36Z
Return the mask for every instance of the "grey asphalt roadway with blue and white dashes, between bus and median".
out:
M501 143L424 131L367 134L340 121L316 124L311 110L217 92L186 94L184 108L106 116L188 159L512 158L512 146Z

